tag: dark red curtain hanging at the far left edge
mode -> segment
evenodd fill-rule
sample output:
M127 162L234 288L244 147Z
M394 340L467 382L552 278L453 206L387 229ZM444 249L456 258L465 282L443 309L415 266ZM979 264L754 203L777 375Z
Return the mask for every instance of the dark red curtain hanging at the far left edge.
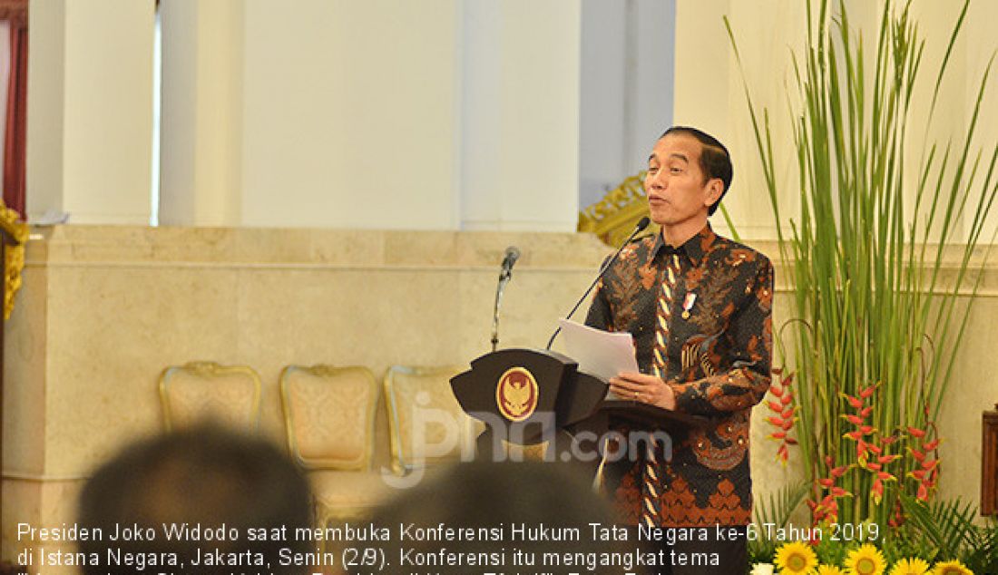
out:
M10 85L4 137L3 201L24 218L25 133L28 123L28 0L0 1L0 20L10 21ZM0 88L2 89L2 88Z

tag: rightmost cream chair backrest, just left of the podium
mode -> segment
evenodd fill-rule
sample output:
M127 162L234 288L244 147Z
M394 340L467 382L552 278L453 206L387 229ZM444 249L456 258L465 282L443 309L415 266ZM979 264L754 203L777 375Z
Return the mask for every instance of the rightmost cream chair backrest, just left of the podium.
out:
M454 461L472 447L481 426L464 413L450 387L450 378L466 369L459 365L388 369L384 393L395 473Z

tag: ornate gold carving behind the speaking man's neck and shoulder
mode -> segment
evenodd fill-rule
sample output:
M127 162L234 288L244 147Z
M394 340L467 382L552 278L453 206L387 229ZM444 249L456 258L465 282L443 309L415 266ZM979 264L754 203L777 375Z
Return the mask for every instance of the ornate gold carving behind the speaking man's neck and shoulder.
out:
M579 232L592 232L604 244L617 247L634 232L639 220L648 216L648 197L642 182L645 172L621 182L603 200L579 213ZM653 224L649 230L655 231Z

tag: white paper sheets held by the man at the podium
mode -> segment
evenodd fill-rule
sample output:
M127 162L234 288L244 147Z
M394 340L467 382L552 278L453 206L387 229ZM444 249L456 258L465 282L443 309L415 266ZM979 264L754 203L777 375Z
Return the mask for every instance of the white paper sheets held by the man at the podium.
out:
M579 370L609 380L621 371L639 371L634 337L627 331L604 331L570 319L559 319L565 351Z

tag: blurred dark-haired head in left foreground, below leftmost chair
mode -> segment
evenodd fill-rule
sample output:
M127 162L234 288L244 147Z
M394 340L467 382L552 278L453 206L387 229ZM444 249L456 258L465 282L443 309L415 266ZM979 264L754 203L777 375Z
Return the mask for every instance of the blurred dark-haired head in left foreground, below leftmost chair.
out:
M160 573L187 571L230 573L267 571L303 573L305 566L281 566L279 550L305 553L309 542L297 541L295 529L312 526L311 492L294 463L270 441L215 426L198 426L157 435L126 447L104 463L84 485L80 496L80 524L99 528L103 539L79 542L80 551L96 564L83 566L85 575L106 573ZM225 524L238 540L198 540L191 536L168 539L164 525ZM111 541L119 528L151 528L155 539ZM283 537L273 530L285 527ZM252 529L265 529L266 540L250 541ZM235 531L233 531L235 529ZM271 568L191 565L192 559L218 549L221 553L260 554ZM133 553L176 554L187 568L118 565L109 555Z

